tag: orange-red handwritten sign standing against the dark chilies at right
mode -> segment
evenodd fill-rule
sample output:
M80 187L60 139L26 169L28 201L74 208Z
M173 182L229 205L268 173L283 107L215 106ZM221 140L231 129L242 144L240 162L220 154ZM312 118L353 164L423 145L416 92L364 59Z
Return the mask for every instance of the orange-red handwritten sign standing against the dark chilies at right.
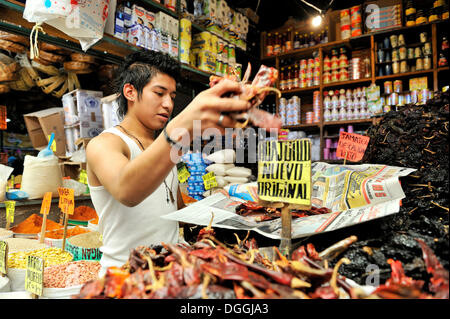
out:
M355 133L341 132L336 150L336 157L358 162L364 157L370 137Z

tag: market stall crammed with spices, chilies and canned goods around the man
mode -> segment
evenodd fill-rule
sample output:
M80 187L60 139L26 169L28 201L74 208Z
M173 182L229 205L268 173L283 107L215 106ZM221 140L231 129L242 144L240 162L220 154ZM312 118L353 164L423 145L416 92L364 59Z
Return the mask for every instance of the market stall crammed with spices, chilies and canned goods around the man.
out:
M448 1L88 2L0 0L0 299L449 298ZM86 146L140 50L174 116L224 79L252 107L175 163L180 242L100 275Z

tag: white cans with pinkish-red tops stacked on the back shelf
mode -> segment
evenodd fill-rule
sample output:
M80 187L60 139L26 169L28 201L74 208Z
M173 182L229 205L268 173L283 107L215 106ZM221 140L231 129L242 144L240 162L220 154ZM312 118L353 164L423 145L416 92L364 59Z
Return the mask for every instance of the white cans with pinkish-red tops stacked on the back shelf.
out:
M324 92L324 121L350 121L372 116L367 107L366 88Z

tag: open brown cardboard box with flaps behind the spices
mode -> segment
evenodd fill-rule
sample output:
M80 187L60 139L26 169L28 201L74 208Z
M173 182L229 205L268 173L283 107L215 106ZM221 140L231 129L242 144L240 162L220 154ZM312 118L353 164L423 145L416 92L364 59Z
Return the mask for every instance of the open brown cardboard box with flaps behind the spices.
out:
M33 147L42 150L48 145L49 136L55 133L56 156L66 155L66 135L64 133L64 110L54 107L23 115Z

